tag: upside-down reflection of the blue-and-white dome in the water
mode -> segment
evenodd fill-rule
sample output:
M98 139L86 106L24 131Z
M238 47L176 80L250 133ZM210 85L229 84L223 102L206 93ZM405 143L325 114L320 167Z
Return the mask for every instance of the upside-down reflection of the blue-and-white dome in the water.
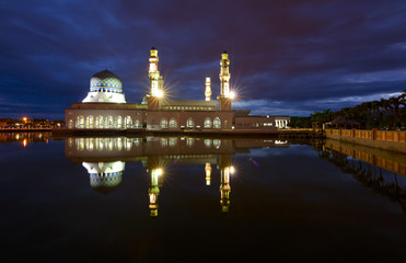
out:
M90 186L103 194L109 194L121 183L123 171L126 163L114 162L82 162L88 170Z

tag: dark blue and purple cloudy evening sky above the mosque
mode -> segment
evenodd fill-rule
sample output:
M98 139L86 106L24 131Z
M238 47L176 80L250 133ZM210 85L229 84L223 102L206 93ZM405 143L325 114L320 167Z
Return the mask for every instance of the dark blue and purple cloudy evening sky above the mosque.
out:
M93 73L148 91L149 49L172 99L219 94L230 54L234 108L308 116L406 89L406 1L2 0L0 117L63 118Z

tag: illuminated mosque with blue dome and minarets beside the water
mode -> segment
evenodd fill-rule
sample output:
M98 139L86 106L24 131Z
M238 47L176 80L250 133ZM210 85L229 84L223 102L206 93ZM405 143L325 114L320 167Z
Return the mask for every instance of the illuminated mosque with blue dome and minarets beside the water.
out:
M149 57L150 90L141 103L127 103L120 79L109 70L93 75L90 91L82 102L66 108L68 129L276 129L288 127L288 116L254 116L248 110L232 110L234 93L230 89L230 59L220 60L220 95L212 100L211 79L206 78L205 100L169 100L159 71L158 50Z

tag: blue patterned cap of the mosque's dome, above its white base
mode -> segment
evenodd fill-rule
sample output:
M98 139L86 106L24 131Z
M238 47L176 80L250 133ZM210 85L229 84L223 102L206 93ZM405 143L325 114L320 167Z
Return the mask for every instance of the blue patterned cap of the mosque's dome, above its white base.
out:
M90 79L90 91L111 91L123 93L121 80L112 71L100 71Z

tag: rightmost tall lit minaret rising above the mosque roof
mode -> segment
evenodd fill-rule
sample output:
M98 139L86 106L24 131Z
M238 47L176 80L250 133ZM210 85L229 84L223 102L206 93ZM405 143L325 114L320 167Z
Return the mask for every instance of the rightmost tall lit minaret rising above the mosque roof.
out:
M219 110L220 111L231 111L231 98L230 98L230 59L229 54L223 52L221 54L220 60L220 96Z

